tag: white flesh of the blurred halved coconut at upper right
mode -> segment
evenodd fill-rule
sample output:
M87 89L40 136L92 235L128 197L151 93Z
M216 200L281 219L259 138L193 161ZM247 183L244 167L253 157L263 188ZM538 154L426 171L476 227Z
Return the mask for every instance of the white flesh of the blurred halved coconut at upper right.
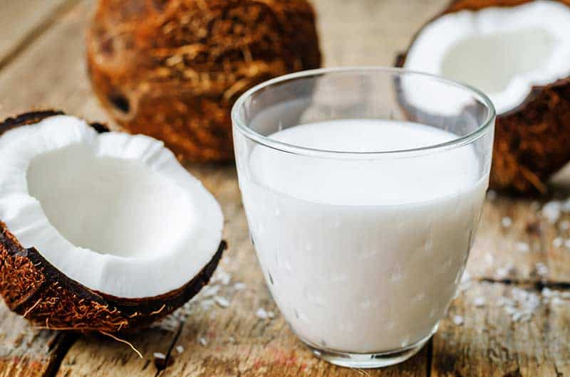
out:
M570 76L569 35L570 7L558 1L458 11L420 31L404 66L477 87L502 114L521 105L533 85ZM431 101L448 99L445 87L438 91Z

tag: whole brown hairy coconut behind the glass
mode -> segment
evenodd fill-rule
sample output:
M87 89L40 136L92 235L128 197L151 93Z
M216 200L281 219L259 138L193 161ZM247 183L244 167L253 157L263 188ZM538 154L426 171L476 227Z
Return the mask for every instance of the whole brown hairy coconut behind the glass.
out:
M229 112L242 92L321 65L305 0L100 0L87 58L118 124L194 161L233 158Z

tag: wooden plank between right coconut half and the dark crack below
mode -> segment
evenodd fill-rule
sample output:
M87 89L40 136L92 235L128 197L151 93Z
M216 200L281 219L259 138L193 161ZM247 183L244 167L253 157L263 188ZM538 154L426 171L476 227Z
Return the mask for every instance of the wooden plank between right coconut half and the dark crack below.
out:
M566 198L569 196L566 195ZM479 279L570 282L570 213L551 223L541 213L546 199L487 199L467 271ZM566 224L566 225L565 225ZM554 241L556 238L558 240Z

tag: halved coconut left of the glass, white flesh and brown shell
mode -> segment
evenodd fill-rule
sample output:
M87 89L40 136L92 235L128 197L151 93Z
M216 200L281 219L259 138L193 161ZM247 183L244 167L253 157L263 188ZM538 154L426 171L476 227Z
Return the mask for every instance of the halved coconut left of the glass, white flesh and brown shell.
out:
M187 302L222 211L162 142L57 112L0 124L0 293L50 329L116 332Z

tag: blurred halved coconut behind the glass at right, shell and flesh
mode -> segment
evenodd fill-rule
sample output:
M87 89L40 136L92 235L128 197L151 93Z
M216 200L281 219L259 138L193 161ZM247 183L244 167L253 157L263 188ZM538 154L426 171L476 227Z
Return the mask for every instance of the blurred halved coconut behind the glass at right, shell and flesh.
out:
M497 109L493 188L545 192L549 177L570 160L569 4L454 1L398 58L398 66L489 95ZM449 105L442 93L431 97Z

